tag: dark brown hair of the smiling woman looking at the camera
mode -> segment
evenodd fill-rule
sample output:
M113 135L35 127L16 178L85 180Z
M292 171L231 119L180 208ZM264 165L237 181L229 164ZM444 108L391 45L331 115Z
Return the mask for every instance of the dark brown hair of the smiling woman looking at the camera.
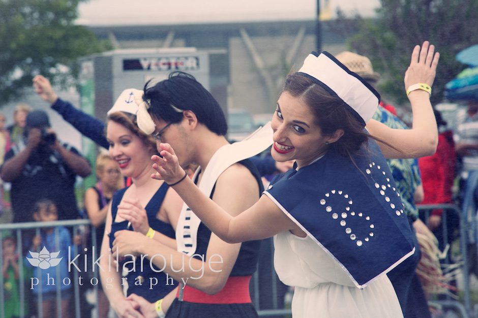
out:
M370 136L364 133L363 124L347 109L348 106L312 79L297 73L291 74L287 76L284 91L305 101L314 113L314 122L324 136L331 136L339 129L344 131L339 140L330 144L330 149L344 156L351 156L368 141Z

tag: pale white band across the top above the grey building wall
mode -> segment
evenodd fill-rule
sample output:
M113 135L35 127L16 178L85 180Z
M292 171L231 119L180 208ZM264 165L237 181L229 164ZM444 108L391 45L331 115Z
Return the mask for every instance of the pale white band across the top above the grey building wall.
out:
M330 0L332 12L374 14L379 0ZM321 0L322 4L326 0ZM316 0L89 0L79 24L183 24L314 19Z

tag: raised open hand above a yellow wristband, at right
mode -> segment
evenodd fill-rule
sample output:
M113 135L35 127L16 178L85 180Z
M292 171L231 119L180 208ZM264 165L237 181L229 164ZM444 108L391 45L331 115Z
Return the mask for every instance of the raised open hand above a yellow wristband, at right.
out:
M435 46L428 41L423 42L422 47L416 45L411 53L410 66L405 72L405 89L417 83L425 83L431 87L439 58L440 54L435 53Z

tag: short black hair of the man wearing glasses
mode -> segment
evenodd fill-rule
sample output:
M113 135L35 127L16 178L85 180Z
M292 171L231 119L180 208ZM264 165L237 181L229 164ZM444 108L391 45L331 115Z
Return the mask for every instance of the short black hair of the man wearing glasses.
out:
M219 136L227 134L224 112L212 94L194 76L184 72L172 72L154 86L144 85L143 99L150 105L148 112L166 122L178 123L183 113L173 109L192 111L197 120Z

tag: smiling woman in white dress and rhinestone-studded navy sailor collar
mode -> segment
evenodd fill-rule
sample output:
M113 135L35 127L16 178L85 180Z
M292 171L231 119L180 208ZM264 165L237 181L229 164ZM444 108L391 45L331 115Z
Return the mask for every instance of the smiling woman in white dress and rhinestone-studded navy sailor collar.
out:
M310 54L301 70L287 77L272 120L272 155L281 162L295 160L294 169L237 216L183 178L169 144L160 145L163 157L154 156L152 177L173 184L226 242L275 236L276 271L295 287L294 318L403 317L386 274L399 266L403 275L413 275L404 261L416 254L383 155L435 151L429 94L438 57L428 42L413 49L405 73L413 129L405 131L370 120L380 96L365 80L327 52Z

